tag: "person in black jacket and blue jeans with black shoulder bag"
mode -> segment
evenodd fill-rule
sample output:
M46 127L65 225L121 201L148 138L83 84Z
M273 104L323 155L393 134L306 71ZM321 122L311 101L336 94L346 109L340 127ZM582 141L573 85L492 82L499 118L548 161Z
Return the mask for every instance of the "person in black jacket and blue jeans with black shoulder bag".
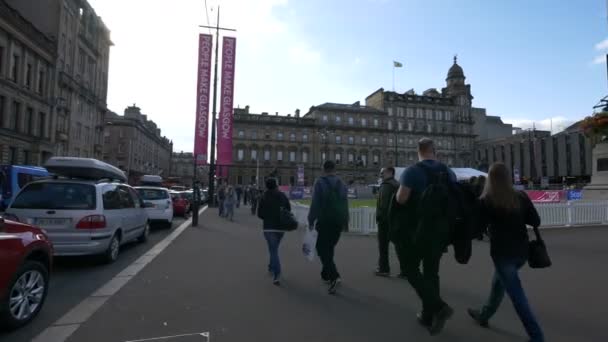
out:
M268 272L272 273L272 282L277 286L281 283L279 245L285 234L285 230L280 224L281 208L291 211L289 199L279 191L277 180L268 178L266 180L266 192L264 192L258 206L258 217L264 220L264 238L268 243L268 253L270 254Z

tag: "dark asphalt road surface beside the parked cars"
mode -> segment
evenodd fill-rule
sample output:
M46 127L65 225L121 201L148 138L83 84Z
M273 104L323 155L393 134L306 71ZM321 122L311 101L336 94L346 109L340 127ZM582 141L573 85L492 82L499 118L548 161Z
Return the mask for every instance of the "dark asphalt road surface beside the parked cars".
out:
M183 222L183 218L176 218L173 221L173 228ZM93 257L55 258L49 294L40 314L30 324L15 332L0 333L0 341L29 342L171 231L172 229L153 228L147 243L123 246L119 259L110 265L100 264Z

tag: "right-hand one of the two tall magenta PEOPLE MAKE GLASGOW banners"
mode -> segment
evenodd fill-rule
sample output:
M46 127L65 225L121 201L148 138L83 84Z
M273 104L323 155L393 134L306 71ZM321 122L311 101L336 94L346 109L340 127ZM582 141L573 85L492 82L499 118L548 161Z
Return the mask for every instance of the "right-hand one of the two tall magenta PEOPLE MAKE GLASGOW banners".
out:
M232 165L232 126L234 121L234 60L236 38L224 37L222 42L222 89L220 96L220 117L217 121L217 164L220 177L228 176L227 165Z

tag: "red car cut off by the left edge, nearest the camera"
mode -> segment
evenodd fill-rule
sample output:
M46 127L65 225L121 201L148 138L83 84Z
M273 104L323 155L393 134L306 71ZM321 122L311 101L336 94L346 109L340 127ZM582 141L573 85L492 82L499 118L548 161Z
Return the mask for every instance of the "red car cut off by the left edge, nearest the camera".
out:
M0 217L0 329L16 329L40 312L52 255L41 229Z

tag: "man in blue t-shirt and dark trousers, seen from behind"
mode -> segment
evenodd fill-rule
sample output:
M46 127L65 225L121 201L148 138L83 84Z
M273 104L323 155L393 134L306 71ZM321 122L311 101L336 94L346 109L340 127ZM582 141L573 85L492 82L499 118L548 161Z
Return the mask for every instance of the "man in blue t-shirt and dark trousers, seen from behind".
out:
M441 194L426 190L442 187L445 189L448 183L456 183L457 180L454 172L437 160L433 140L420 139L418 159L418 163L401 174L396 194L397 202L401 205L407 203L407 207L415 213L409 223L409 234L403 241L403 268L410 285L422 301L422 311L417 315L418 321L431 335L436 335L454 314L454 310L441 298L439 284L441 257L449 241L449 222L445 207L448 199L444 198L447 196L445 192ZM442 195L442 198L434 196L435 194ZM435 203L432 203L433 200Z

